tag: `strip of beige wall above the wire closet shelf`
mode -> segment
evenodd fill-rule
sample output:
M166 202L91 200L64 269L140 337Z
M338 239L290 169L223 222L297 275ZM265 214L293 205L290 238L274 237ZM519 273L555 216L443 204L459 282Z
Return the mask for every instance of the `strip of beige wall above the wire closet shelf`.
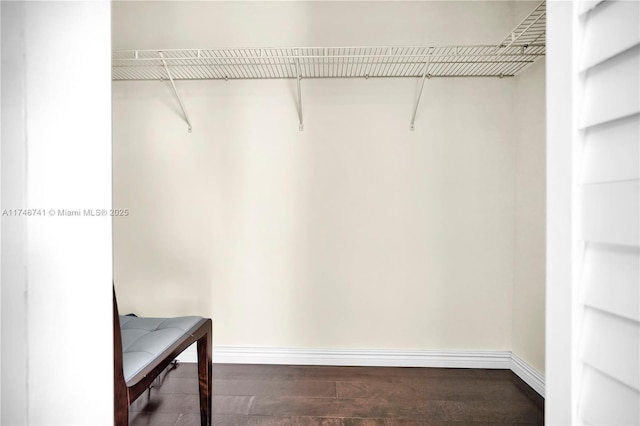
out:
M113 47L494 44L537 3L115 1Z

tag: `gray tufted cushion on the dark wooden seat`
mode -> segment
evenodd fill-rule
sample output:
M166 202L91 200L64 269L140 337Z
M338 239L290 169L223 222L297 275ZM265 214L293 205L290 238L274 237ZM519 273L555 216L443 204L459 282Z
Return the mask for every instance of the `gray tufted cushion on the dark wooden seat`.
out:
M124 380L128 382L201 319L120 316Z

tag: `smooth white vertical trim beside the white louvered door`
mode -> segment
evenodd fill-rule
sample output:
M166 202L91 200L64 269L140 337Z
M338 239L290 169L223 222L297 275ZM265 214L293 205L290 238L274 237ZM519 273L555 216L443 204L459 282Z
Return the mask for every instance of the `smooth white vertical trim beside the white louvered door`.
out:
M547 2L547 232L546 232L546 341L544 416L547 425L577 424L574 330L576 280L574 241L576 208L574 117L574 62L579 46L575 36L579 2ZM580 109L580 108L579 108ZM578 168L579 169L579 168Z

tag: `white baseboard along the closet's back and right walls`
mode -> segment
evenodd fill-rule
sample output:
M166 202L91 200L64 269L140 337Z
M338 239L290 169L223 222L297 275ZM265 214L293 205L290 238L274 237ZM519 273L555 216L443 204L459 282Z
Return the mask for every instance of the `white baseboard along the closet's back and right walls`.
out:
M213 358L214 362L220 364L510 369L544 397L544 376L509 351L397 351L216 346L213 349ZM196 362L195 345L180 354L178 361Z

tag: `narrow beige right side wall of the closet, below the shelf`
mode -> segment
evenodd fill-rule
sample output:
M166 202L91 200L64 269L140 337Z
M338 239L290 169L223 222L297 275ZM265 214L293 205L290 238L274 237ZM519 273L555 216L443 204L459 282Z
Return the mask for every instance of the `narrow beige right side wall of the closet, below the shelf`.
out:
M513 352L544 373L545 61L516 81L516 243Z

